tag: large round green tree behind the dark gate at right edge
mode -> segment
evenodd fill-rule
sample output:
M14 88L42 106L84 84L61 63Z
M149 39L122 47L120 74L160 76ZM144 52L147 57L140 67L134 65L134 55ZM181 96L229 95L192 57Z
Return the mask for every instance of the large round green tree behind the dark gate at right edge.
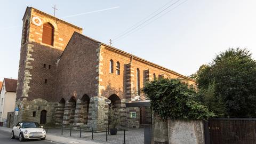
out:
M256 117L256 62L246 49L228 49L195 74L198 93L214 113Z

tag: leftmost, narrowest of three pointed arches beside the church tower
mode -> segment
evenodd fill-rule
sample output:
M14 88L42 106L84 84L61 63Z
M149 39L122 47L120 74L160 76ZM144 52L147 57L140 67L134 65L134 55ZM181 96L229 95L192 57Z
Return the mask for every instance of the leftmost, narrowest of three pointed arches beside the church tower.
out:
M62 98L55 106L55 125L62 125L65 103L65 99Z

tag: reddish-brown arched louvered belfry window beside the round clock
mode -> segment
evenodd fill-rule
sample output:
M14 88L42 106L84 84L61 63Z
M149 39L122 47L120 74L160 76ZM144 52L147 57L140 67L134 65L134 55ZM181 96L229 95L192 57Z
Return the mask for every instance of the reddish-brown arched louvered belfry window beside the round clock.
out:
M54 28L50 23L44 23L42 42L45 44L53 45Z

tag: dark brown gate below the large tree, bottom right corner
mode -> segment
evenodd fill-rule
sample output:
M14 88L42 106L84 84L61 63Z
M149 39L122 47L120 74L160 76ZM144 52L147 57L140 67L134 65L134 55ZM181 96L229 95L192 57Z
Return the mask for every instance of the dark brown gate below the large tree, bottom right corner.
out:
M209 129L208 129L209 128ZM207 136L207 129L209 136ZM256 143L256 118L214 118L205 126L205 142L211 144Z

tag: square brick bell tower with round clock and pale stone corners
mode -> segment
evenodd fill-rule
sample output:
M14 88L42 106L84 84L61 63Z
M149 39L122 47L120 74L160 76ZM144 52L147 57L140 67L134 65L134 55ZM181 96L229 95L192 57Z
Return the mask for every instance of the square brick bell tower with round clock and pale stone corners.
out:
M27 7L22 21L15 103L19 115L14 119L53 123L56 62L73 33L83 29L33 7Z

